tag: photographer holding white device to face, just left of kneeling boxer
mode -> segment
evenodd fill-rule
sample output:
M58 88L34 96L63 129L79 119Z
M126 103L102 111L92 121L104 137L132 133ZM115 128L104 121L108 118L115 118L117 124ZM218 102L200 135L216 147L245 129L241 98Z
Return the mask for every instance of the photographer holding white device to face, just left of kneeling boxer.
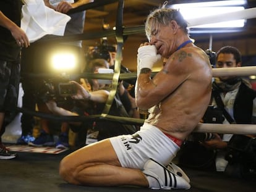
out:
M105 59L92 59L87 65L87 72L89 73L99 73L102 69L109 69L109 63ZM111 90L111 81L107 82L105 80L98 79L89 79L88 80L92 91L97 90ZM128 91L124 88L122 81L119 82L117 86L117 92L114 96L113 103L111 108L109 109L109 115L116 115L122 117L132 117L131 112L134 111L135 102L131 102L129 98ZM101 114L103 109L105 108L105 104L95 103L92 106L94 109L93 114ZM105 123L106 124L106 123ZM104 138L108 138L109 136L124 134L124 132L134 132L136 130L134 125L124 125L122 123L112 123L108 122L108 127L111 129L106 129L106 125L101 124L101 122L97 123L97 126L100 130L99 138L101 140L101 135Z

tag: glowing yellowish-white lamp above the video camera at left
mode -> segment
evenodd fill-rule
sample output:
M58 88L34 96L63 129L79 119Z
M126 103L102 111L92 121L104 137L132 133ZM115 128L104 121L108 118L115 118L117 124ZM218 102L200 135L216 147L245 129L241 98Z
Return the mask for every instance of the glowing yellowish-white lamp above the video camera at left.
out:
M74 54L58 53L53 55L51 64L55 70L68 71L75 68L76 59Z

